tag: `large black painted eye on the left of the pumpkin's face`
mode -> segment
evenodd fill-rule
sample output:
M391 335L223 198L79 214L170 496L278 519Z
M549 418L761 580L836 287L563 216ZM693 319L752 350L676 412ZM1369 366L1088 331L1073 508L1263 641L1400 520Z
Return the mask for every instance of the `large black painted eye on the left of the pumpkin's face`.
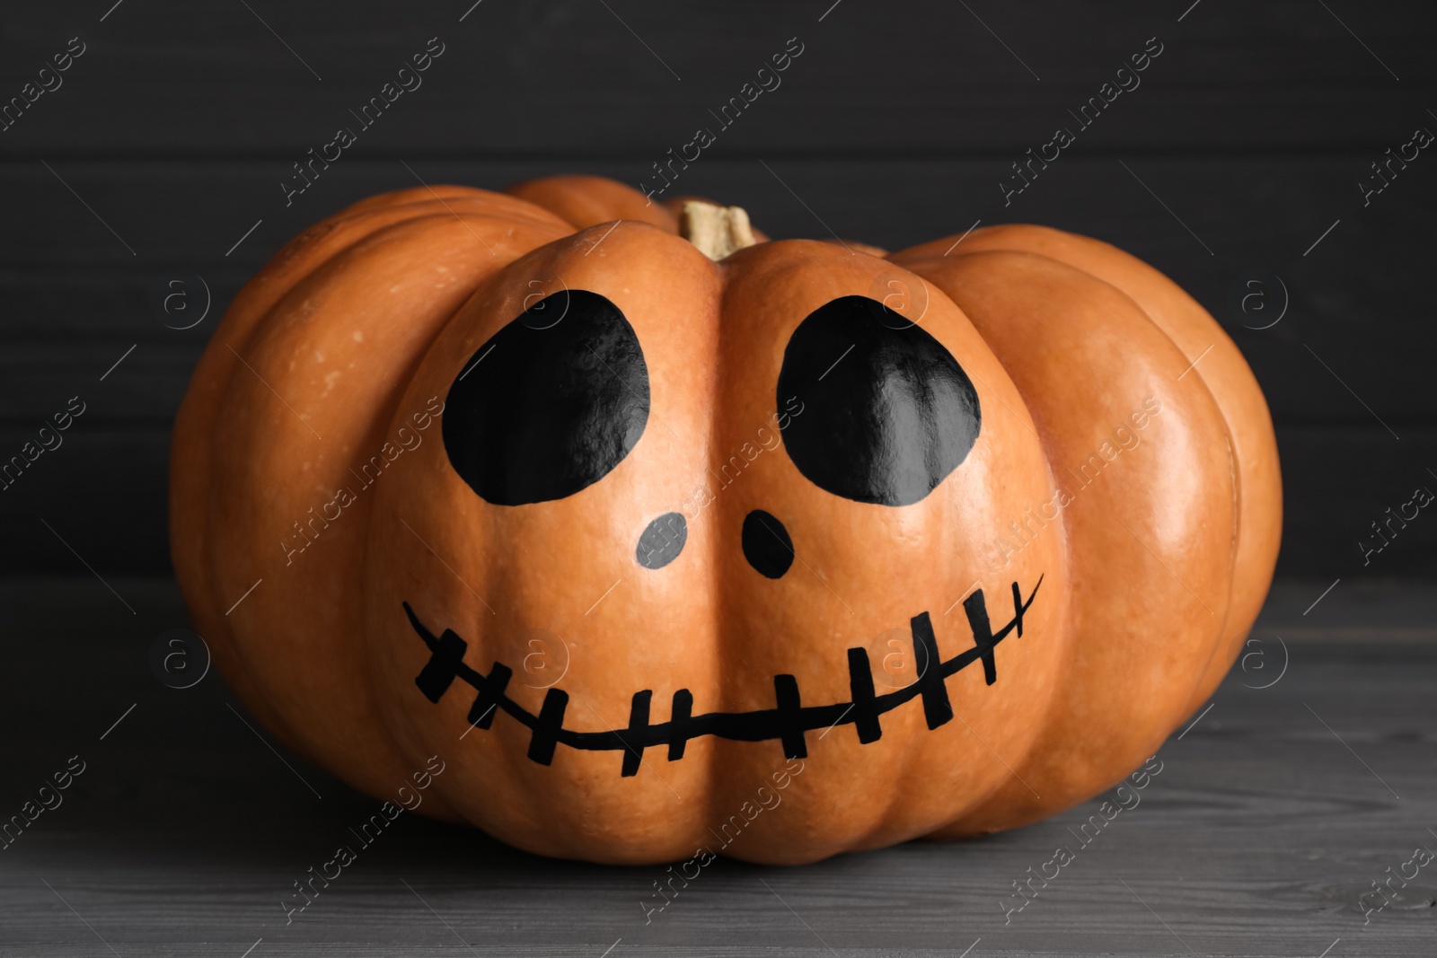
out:
M573 496L608 475L644 435L644 350L605 297L555 293L464 363L443 421L450 464L484 501Z

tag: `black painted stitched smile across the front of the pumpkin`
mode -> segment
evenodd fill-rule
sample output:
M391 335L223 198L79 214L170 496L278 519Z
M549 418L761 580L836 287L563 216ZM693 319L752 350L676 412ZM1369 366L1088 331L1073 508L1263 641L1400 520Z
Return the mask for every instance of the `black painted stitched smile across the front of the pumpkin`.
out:
M445 629L443 635L435 636L420 622L408 602L404 603L404 613L430 649L430 661L414 684L431 702L437 704L453 687L454 679L460 679L476 692L474 704L468 708L468 724L473 728L490 728L494 722L494 714L502 711L529 728L529 758L532 761L540 766L550 764L558 745L579 751L621 751L624 753L621 774L631 777L638 774L645 748L667 745L668 760L678 761L684 757L688 741L703 735L716 735L731 741L777 740L783 745L785 758L806 758L806 733L819 728L831 730L835 725L854 725L858 731L858 741L867 745L882 738L882 715L914 698L923 701L923 714L930 730L946 725L953 720L947 678L974 662L983 662L984 681L989 685L996 682L997 664L993 649L1015 632L1019 636L1023 635L1023 615L1033 605L1038 587L1042 585L1043 577L1039 576L1027 600L1023 600L1017 583L1013 583L1013 618L997 632L989 622L983 590L979 589L964 599L963 610L967 615L969 629L973 632L973 648L964 649L947 662L938 658L938 639L933 632L928 613L915 615L908 625L912 632L914 659L923 664L923 668L917 679L891 692L882 695L874 692L874 672L868 661L868 649L852 648L848 649L848 681L852 701L833 702L832 705L803 705L798 678L775 675L775 708L694 715L694 695L687 688L681 688L674 692L670 720L651 724L648 717L654 692L644 689L634 692L628 727L609 731L565 728L563 717L569 707L569 694L562 688L550 688L539 707L539 714L535 715L506 694L513 669L503 662L494 662L487 675L479 672L464 664L468 642L458 633Z

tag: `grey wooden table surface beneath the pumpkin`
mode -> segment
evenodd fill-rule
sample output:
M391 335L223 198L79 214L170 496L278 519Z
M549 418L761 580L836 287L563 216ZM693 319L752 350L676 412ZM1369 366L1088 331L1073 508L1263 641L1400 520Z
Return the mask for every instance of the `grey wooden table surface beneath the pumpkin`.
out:
M1437 850L1437 616L1411 587L1341 583L1308 615L1325 583L1279 587L1246 668L1086 846L1092 807L806 868L720 860L645 921L662 868L402 816L286 924L376 803L262 740L217 675L161 685L174 585L109 586L0 583L0 814L83 763L0 852L0 955L1437 954L1437 862L1410 865ZM1075 860L1006 913L1059 845Z

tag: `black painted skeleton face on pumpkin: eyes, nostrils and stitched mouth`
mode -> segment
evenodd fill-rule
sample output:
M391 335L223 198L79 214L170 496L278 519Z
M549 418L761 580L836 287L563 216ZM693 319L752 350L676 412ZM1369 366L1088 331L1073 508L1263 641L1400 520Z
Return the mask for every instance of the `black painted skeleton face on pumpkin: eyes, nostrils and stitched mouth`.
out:
M502 362L470 378L497 350L503 350ZM785 414L783 396L798 401L800 412ZM516 408L532 412L516 417ZM799 323L783 353L775 408L772 421L805 478L846 500L892 507L927 497L967 457L981 422L977 391L953 355L915 323L864 296L835 299ZM470 358L445 402L444 447L454 470L486 501L525 506L565 498L604 480L638 444L648 418L648 366L634 327L604 296L563 290L532 306ZM645 526L635 560L657 573L681 556L687 540L684 514L664 513ZM779 579L793 566L793 539L769 511L749 511L739 541L749 564L767 579ZM944 672L981 659L992 685L993 646L1013 629L1022 636L1023 613L1032 600L1029 596L1023 602L1015 582L1013 620L994 635L983 592L973 593L966 610L974 649L953 662L938 661L928 615L915 616L917 682L902 691L875 697L867 654L855 648L849 651L849 671L855 688L864 685L867 695L855 698L854 708L841 704L805 714L792 675L776 679L780 708L787 705L790 718L803 730L833 725L854 712L852 721L864 724L861 738L874 741L881 737L878 715L921 692L930 727L941 725L953 717ZM435 639L408 606L405 610L434 654L418 678L431 701L463 676L479 692L468 712L471 724L490 727L500 708L523 721L542 721L504 694L512 678L507 666L496 665L489 676L464 666L463 639L453 632ZM562 715L562 697L560 689L549 692L546 702L556 702L553 708L546 705L550 714ZM622 774L634 776L648 744L667 744L677 757L688 737L701 734L782 738L789 758L808 754L803 730L785 733L780 722L764 721L763 715L694 717L688 689L674 692L675 712L683 715L655 728L648 724L650 699L648 689L634 699L629 728L644 727L635 731L641 738L618 733L583 738L565 734L562 721L549 721L535 725L529 755L547 764L559 741L576 748L625 750Z

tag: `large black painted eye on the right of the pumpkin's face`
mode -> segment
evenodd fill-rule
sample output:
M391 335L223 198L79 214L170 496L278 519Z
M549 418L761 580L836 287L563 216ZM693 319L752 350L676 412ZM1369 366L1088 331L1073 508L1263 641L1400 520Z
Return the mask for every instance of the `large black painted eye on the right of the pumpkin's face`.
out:
M859 503L911 506L977 441L979 395L924 329L864 296L844 296L799 323L783 353L779 404L802 415L783 445L822 490Z

